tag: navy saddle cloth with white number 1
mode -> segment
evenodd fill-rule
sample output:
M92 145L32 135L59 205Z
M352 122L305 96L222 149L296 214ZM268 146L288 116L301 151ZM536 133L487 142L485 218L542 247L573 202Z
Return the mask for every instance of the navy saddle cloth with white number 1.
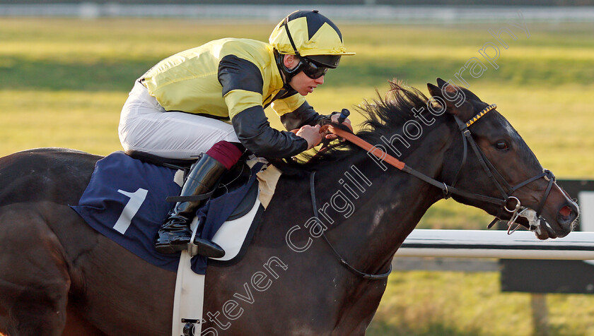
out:
M256 164L251 169L250 179L243 186L209 200L197 211L201 220L206 221L202 230L204 238L212 239L246 195L253 197L254 191L257 195L255 174L262 165ZM78 205L71 205L71 208L93 229L136 256L175 272L180 253L157 253L153 241L163 220L175 205L165 202L165 198L180 193L180 186L174 181L176 172L175 168L136 160L124 152L114 152L95 164L83 196ZM251 209L253 204L244 202L240 208ZM195 256L192 258L192 270L204 274L206 263L206 258Z

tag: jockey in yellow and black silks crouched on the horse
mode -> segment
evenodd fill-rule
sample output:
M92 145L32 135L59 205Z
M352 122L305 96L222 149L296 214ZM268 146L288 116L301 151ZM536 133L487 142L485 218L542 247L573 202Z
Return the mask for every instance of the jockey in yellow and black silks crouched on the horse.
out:
M180 52L136 81L122 108L120 141L124 150L199 157L180 196L206 193L245 149L259 157L284 158L318 145L325 116L315 112L305 95L324 83L325 73L338 66L342 55L352 54L337 26L318 11L289 14L274 28L269 44L226 38ZM269 105L287 130L298 131L271 128L264 114ZM331 118L336 122L338 115ZM190 223L201 205L175 205L156 236L156 251L187 248ZM197 230L202 230L200 224ZM225 254L206 239L194 243L202 256Z

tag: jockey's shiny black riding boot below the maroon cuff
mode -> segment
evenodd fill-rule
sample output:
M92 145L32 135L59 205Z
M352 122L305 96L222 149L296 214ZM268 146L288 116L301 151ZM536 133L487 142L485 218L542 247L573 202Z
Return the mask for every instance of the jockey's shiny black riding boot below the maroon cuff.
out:
M202 155L200 160L192 166L188 174L180 196L193 196L207 193L213 188L219 177L226 171L226 168L219 161L209 155ZM204 200L195 202L178 202L173 212L161 225L155 239L155 249L158 253L175 253L187 248L192 238L190 224L196 215L196 210L202 206ZM202 231L202 225L196 228ZM212 241L196 237L194 244L197 244L198 254L206 257L221 258L225 251L221 246Z

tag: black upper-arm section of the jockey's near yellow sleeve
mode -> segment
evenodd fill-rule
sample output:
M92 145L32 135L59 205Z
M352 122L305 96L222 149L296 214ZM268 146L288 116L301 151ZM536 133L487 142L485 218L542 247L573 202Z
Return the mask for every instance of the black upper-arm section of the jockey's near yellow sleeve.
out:
M262 95L264 80L260 68L250 61L235 55L224 56L219 62L219 83L223 85L223 97L231 90L246 90Z

